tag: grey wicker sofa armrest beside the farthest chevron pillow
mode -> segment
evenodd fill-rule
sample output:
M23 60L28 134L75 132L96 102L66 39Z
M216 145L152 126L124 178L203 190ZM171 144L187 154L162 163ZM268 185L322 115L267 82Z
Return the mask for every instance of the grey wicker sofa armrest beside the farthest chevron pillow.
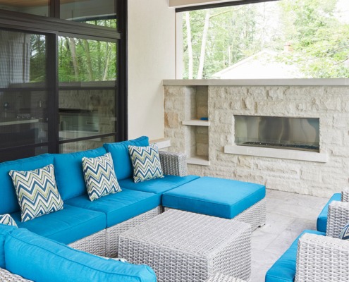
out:
M162 172L172 176L186 176L187 156L181 153L159 151Z

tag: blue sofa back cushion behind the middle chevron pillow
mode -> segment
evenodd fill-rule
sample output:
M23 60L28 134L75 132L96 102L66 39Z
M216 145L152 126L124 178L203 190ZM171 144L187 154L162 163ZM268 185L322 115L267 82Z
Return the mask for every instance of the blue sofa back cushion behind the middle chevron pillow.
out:
M54 173L63 201L87 192L82 172L82 158L100 157L104 154L106 154L104 147L70 154L54 154Z

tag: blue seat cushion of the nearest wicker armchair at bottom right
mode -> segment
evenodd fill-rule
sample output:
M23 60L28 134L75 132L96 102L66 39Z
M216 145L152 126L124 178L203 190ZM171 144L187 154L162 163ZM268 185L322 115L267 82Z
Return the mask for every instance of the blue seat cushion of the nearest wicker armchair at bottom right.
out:
M305 230L290 245L288 250L271 266L265 276L265 282L293 282L295 279L295 262L297 259L298 239L304 233L325 235L319 231Z

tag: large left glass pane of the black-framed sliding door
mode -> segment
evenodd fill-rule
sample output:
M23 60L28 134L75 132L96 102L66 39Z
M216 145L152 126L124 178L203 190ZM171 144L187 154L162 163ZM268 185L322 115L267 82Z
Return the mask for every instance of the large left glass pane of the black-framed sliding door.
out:
M0 30L0 149L48 142L46 36Z

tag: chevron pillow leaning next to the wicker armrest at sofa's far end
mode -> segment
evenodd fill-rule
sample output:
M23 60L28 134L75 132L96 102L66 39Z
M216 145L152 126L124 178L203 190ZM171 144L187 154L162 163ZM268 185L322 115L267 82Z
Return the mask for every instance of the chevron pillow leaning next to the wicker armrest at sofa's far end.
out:
M133 180L135 183L162 178L161 163L157 145L147 147L128 146L133 165Z

